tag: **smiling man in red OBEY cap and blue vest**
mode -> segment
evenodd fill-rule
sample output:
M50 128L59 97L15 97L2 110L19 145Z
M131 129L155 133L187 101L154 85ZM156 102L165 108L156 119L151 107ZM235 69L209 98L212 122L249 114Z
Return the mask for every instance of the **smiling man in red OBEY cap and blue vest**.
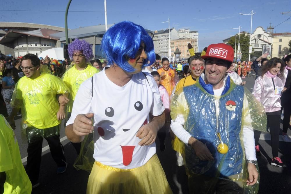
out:
M266 130L264 108L227 75L230 45L209 45L205 76L172 99L171 129L184 144L190 193L257 193L253 128Z

